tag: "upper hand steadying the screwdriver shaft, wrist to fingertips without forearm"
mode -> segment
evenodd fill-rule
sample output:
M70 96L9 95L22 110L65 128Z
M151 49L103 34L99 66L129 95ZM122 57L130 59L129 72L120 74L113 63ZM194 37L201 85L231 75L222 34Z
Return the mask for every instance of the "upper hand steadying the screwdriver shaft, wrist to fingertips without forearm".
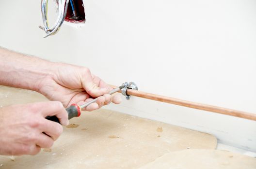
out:
M107 94L112 88L88 68L63 63L52 63L50 67L51 73L38 83L37 91L50 100L61 101L64 107L72 103L82 105L98 97L96 103L83 109L93 111L111 101L119 104L122 100L119 94Z

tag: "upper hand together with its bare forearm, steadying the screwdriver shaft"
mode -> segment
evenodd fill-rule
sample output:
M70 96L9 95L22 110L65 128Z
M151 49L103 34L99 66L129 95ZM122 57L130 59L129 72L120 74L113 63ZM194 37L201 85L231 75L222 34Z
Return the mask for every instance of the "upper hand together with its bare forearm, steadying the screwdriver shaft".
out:
M84 104L96 97L83 110L93 111L103 105L120 103L118 94L85 67L49 62L0 48L0 84L35 90L50 100L61 101L64 107ZM102 96L104 95L104 96Z

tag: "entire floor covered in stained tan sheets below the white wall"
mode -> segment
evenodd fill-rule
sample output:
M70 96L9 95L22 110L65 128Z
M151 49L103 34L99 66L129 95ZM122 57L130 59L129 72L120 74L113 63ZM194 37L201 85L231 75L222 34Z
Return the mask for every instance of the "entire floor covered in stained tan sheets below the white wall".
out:
M35 92L0 86L0 106L44 100ZM0 155L0 168L153 169L162 165L168 169L206 169L208 165L210 169L256 168L254 152L217 143L207 133L159 121L101 109L83 112L70 123L51 149L35 156ZM195 161L200 162L194 164Z

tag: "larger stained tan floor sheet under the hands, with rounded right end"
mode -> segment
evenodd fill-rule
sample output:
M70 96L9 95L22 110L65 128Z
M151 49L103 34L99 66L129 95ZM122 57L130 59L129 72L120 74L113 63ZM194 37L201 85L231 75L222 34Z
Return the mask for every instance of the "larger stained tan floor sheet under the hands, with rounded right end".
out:
M45 100L27 90L0 87L0 105ZM5 97L7 96L7 97ZM83 112L50 150L38 155L0 156L2 169L136 169L172 151L214 149L202 132L108 110Z

